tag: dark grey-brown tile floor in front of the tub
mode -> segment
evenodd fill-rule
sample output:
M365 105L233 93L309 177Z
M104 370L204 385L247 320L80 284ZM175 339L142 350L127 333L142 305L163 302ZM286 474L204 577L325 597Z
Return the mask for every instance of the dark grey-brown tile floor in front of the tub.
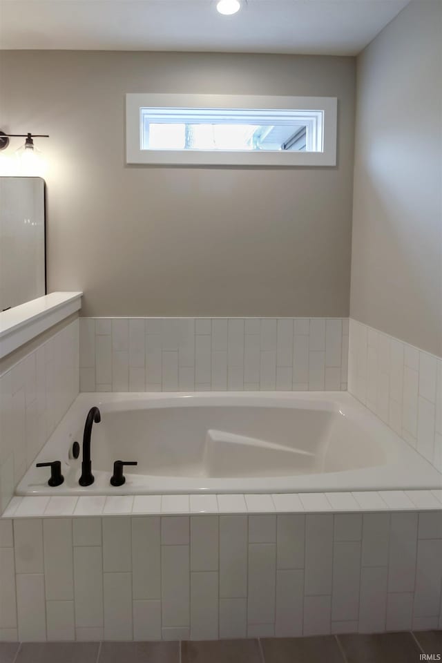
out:
M417 663L442 631L212 642L0 643L0 663ZM434 657L433 660L439 660Z

